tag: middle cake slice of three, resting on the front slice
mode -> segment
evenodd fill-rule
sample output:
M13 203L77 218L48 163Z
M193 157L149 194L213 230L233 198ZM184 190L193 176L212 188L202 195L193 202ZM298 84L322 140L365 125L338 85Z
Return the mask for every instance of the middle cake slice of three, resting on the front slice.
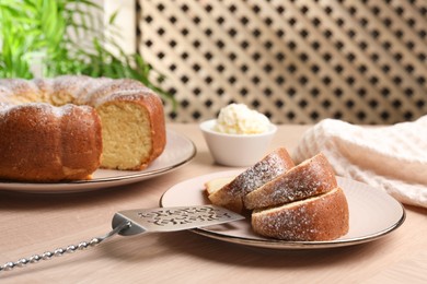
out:
M279 205L337 187L334 169L322 154L304 161L244 197L246 209Z

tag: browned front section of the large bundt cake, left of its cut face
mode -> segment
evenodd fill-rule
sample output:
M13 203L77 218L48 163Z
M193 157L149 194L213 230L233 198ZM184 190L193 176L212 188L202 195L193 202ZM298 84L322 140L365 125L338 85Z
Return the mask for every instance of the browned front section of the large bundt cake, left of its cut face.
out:
M1 179L88 179L100 166L101 125L91 107L0 104L0 133Z

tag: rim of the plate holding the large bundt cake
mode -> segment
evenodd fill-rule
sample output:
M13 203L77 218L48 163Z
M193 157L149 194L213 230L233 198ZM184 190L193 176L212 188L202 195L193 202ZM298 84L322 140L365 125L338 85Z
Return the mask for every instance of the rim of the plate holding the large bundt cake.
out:
M166 173L170 173L174 169L177 169L181 166L184 166L185 164L189 163L197 154L197 147L193 140L191 140L185 134L182 134L175 130L171 130L166 128L166 139L170 134L173 134L175 137L178 137L180 139L185 140L188 145L192 147L192 152L182 161L172 164L170 166L151 169L151 170L123 170L123 173L129 173L127 175L118 175L118 176L112 176L112 177L99 177L94 179L88 179L88 180L71 180L71 181L58 181L58 182L20 182L20 181L13 181L13 180L0 180L0 191L16 191L16 192L32 192L32 193L68 193L68 192L83 192L88 190L77 190L78 188L82 186L93 186L96 184L103 184L107 182L105 187L113 187L115 184L122 180L128 180L129 182L137 182L139 180L145 180L148 178L153 178ZM166 140L168 143L168 140ZM160 157L160 156L159 156ZM109 170L109 169L102 169L99 168L96 170ZM95 171L94 171L95 173ZM130 174L131 173L131 174ZM39 191L38 188L54 188L54 187L60 187L60 186L67 186L69 188L73 188L70 190L44 190ZM23 187L27 187L28 189L22 189ZM31 189L33 188L33 189Z

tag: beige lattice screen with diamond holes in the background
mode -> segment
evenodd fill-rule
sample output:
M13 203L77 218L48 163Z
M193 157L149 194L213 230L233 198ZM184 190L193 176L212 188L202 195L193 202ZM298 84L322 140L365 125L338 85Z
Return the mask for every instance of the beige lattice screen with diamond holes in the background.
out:
M139 1L139 51L200 121L231 102L276 123L427 114L426 0Z

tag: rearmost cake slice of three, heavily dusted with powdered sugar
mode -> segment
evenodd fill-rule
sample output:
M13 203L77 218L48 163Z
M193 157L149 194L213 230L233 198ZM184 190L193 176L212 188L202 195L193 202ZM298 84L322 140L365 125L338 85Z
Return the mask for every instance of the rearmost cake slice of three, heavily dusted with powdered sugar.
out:
M295 166L288 151L279 147L238 175L229 184L211 192L208 198L215 205L241 212L243 197Z

